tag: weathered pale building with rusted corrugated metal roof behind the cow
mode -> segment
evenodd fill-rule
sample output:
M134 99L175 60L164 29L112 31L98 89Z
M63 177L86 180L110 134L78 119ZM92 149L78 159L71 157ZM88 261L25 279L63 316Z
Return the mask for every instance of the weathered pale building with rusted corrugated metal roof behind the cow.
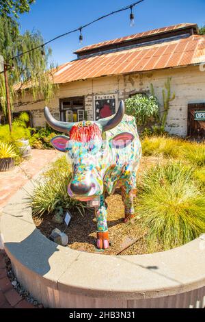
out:
M163 108L162 89L172 77L176 99L167 131L181 136L199 132L200 122L193 115L197 109L205 110L205 36L198 34L195 23L106 40L74 53L76 60L53 71L59 92L49 107L56 118L81 121L109 116L120 99L148 93L151 84ZM43 107L42 100L33 102L29 94L16 103L16 110L33 114L35 126L44 125Z

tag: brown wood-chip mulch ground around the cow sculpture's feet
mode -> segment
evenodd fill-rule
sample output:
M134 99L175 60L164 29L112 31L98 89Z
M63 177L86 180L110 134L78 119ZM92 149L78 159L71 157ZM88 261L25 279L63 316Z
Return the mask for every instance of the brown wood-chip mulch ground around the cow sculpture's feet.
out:
M156 164L159 158L143 158L139 175L153 164ZM137 220L132 219L124 223L124 204L122 203L120 190L112 196L106 198L108 205L107 223L109 227L109 238L111 246L105 251L96 249L96 219L94 212L87 211L83 216L78 212L72 212L70 225L54 223L52 214L46 214L42 218L33 216L36 227L49 237L52 230L56 227L68 235L68 247L81 251L92 253L102 253L104 255L134 255L149 253L146 242L147 232L143 230Z

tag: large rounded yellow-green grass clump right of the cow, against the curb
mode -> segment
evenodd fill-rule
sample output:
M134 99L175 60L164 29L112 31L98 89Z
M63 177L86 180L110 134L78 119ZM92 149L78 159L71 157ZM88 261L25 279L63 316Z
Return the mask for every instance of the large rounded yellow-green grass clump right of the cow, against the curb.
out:
M178 247L205 232L205 196L191 166L174 162L146 171L136 200L136 220L148 229L150 251Z

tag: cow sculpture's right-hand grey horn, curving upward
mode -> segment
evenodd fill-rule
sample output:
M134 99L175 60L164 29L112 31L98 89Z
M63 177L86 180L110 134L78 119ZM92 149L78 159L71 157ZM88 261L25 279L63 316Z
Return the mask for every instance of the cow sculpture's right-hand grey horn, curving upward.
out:
M113 127L117 126L124 116L124 101L120 101L120 106L118 108L118 112L114 116L109 116L105 119L98 120L98 123L102 126L102 131L108 131L109 129L113 129Z

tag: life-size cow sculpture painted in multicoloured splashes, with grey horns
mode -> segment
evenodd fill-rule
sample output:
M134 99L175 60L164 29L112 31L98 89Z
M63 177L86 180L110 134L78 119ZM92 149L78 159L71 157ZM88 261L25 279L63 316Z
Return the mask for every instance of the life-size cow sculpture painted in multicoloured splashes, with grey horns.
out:
M57 121L49 108L44 108L44 115L53 129L69 135L69 138L55 136L51 143L55 149L67 152L67 160L72 164L72 179L68 182L70 197L81 201L98 199L96 245L98 249L107 249L105 193L111 195L117 186L121 188L124 221L134 214L133 195L141 158L135 118L124 114L123 101L114 116L98 121Z

